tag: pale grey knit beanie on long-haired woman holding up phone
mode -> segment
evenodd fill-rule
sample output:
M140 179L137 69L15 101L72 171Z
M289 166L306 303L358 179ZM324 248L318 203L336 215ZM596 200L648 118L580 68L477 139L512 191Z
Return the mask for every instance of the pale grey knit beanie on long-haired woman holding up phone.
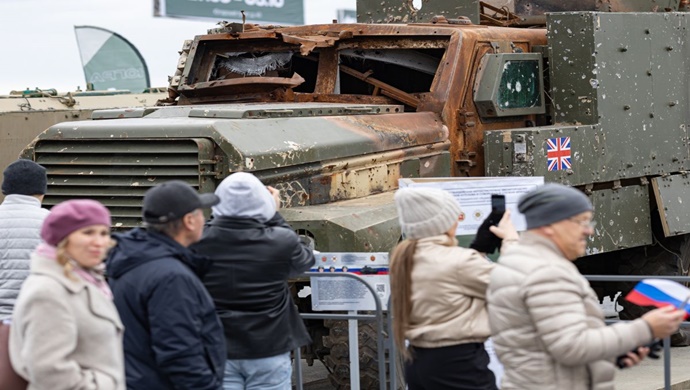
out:
M448 231L461 214L453 196L438 188L408 187L395 193L400 226L405 238L420 239Z

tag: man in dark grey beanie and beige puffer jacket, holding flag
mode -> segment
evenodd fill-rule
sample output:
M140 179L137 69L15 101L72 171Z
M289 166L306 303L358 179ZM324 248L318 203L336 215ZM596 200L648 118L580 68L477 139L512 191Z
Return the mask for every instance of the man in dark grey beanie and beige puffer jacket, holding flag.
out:
M594 232L587 196L546 184L523 195L518 210L527 231L501 252L487 292L501 389L613 390L614 362L637 364L649 353L640 346L672 334L685 311L666 307L606 326L599 299L573 264Z

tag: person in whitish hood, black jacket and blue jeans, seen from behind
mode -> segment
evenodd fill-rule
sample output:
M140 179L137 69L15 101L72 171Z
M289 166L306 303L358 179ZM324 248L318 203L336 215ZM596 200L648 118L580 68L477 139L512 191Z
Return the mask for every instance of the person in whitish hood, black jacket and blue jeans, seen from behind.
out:
M289 390L290 352L311 339L287 281L314 265L314 253L277 212L278 190L251 173L225 178L216 195L192 250L213 261L203 282L225 331L223 389Z

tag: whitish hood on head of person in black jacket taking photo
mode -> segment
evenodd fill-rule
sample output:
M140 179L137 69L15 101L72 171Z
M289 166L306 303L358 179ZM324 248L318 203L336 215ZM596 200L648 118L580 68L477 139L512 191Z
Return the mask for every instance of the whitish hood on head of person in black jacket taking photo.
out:
M216 188L220 203L213 206L216 217L251 218L267 222L276 213L273 196L256 176L237 172L226 177Z

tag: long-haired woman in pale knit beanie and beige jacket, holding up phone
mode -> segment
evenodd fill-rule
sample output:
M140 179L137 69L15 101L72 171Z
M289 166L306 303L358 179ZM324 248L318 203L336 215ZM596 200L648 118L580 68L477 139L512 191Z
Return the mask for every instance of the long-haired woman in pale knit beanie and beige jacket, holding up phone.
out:
M408 388L496 389L484 349L485 294L494 263L458 246L461 211L450 193L402 188L394 199L405 240L391 256L393 338L406 360ZM503 246L517 240L509 212L489 229Z

